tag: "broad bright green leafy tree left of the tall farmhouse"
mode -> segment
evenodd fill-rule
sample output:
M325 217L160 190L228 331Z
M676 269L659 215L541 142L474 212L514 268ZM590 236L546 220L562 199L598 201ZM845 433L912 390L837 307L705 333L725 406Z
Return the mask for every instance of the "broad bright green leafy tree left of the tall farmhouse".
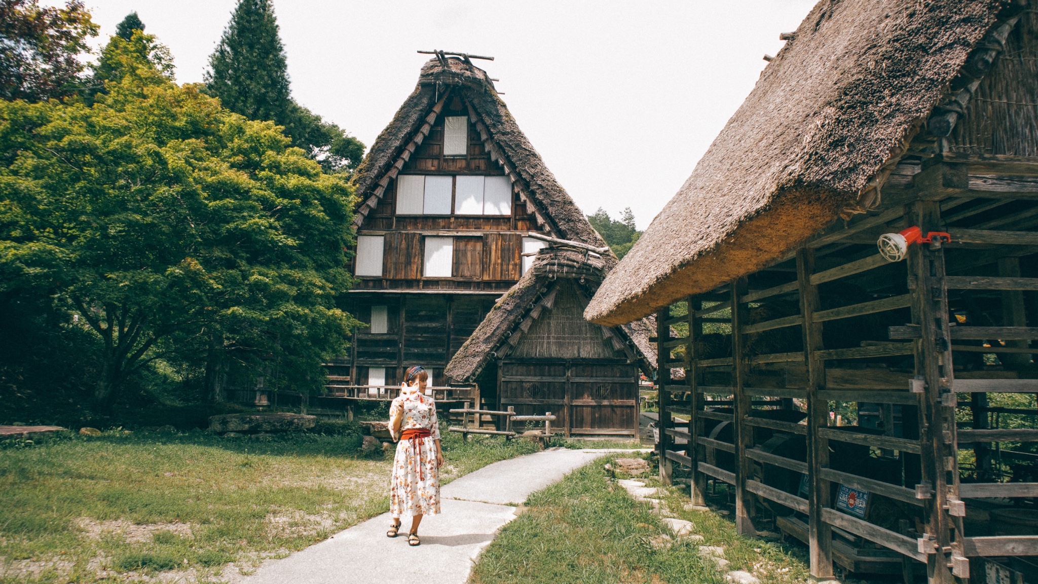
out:
M318 387L353 323L334 304L348 185L274 124L113 50L125 70L92 105L0 102L0 294L47 290L100 339L103 405L149 361L215 343Z

